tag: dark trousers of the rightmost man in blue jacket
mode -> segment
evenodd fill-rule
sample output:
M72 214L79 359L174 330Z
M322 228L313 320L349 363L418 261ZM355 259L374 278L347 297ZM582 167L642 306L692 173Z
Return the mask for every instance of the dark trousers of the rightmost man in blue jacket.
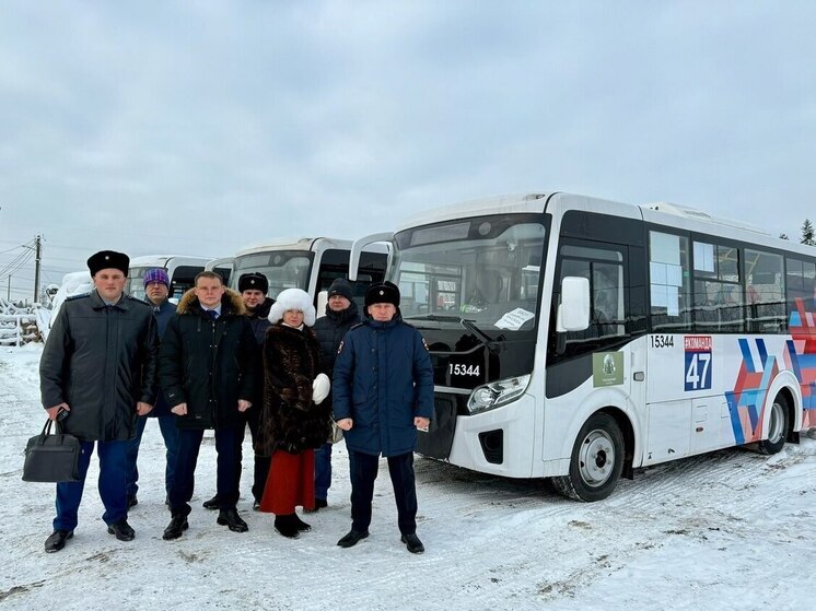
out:
M397 503L399 532L417 531L417 485L413 475L413 453L389 456L388 474ZM351 528L358 532L369 530L371 503L374 498L374 480L377 477L380 456L349 450L351 471Z

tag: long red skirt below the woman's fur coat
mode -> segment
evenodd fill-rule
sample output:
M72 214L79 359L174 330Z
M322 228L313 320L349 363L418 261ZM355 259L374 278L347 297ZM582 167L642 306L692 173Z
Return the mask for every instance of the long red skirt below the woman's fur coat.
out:
M294 514L301 505L305 509L315 507L315 450L300 454L277 450L260 500L260 510L277 516Z

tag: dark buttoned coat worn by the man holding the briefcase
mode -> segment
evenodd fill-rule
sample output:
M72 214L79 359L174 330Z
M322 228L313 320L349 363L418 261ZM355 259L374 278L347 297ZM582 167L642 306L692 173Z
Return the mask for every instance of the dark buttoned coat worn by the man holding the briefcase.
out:
M156 339L140 299L123 295L106 306L96 291L69 297L39 361L43 407L68 403L63 428L83 442L131 438L136 403L155 401Z

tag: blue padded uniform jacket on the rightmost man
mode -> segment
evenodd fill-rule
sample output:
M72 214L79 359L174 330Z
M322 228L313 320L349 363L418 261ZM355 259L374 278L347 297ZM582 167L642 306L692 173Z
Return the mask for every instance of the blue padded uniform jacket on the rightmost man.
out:
M422 336L397 310L366 316L340 345L333 379L335 420L351 418L346 447L399 456L417 445L416 416L433 418L433 367Z

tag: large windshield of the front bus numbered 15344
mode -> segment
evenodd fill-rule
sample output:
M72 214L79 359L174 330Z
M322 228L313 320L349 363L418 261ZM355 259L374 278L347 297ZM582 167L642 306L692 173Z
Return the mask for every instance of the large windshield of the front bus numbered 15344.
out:
M403 317L482 331L536 327L546 230L531 214L479 216L407 230L395 238L392 280Z

